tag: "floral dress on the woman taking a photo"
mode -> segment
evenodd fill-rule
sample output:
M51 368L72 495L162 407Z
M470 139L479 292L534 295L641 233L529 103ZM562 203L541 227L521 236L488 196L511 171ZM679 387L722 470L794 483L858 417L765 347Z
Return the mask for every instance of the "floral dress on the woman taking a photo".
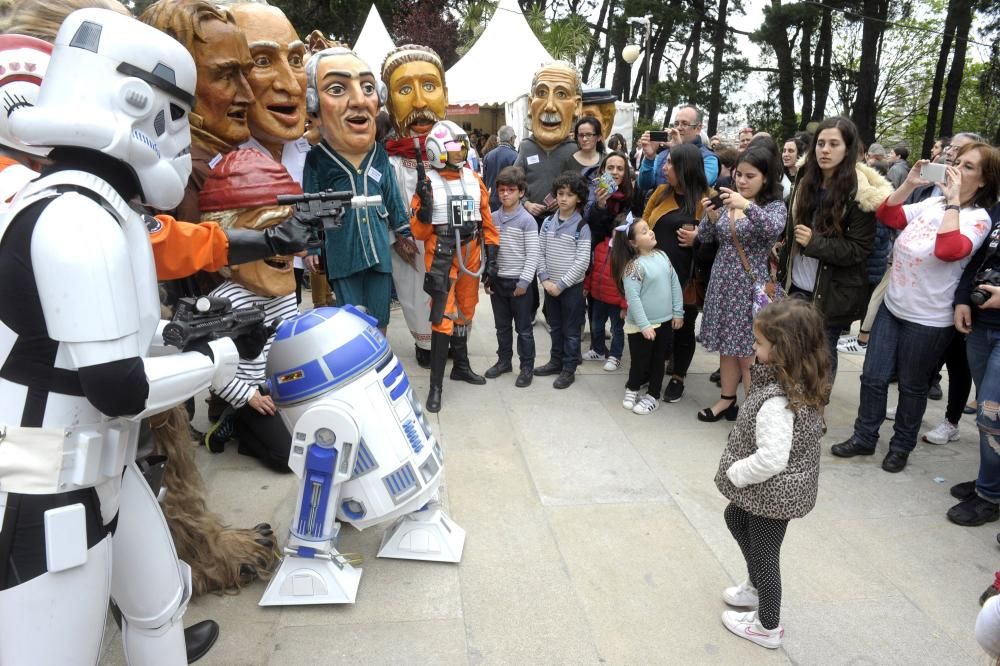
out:
M751 203L743 213L745 217L736 221L736 237L758 279L766 280L771 246L785 228L785 204L772 201L761 207ZM753 285L733 245L731 224L726 208L718 222L706 215L698 226L700 240L719 243L705 291L701 343L723 356L745 357L753 355Z

